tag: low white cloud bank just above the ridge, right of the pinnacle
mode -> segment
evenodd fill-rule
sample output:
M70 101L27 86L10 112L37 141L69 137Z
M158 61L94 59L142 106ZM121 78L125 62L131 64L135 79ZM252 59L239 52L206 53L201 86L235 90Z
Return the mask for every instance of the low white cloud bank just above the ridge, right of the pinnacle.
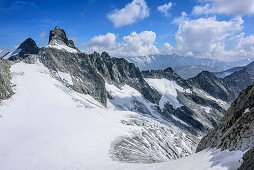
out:
M156 34L152 31L143 31L141 33L132 32L124 36L120 42L106 43L99 36L93 37L89 43L85 43L85 52L107 51L112 56L144 56L149 54L158 54L159 50L154 45ZM106 37L106 35L104 36ZM101 41L97 41L100 39ZM96 41L95 41L96 40Z

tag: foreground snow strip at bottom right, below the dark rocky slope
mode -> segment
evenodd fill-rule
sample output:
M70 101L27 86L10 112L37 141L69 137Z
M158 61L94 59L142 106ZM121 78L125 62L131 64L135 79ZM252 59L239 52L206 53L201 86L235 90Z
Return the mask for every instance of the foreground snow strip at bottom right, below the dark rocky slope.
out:
M204 150L202 152L159 164L143 166L147 170L237 170L244 152ZM140 168L137 168L140 169Z

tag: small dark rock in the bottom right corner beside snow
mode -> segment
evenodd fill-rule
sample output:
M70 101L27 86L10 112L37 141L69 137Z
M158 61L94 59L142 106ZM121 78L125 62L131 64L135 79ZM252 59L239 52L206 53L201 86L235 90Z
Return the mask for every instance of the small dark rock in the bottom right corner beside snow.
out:
M253 170L254 169L254 148L250 149L243 155L243 163L238 170Z

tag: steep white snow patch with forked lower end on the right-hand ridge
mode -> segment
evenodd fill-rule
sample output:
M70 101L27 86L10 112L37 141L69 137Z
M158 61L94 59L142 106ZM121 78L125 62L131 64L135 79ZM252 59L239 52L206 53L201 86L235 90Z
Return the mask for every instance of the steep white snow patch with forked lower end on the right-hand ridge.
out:
M183 89L176 82L167 80L165 78L162 79L150 79L146 78L146 82L154 87L156 90L163 94L159 106L163 110L164 105L169 102L174 109L181 107L182 104L177 100L177 90L180 92L191 93L190 89Z

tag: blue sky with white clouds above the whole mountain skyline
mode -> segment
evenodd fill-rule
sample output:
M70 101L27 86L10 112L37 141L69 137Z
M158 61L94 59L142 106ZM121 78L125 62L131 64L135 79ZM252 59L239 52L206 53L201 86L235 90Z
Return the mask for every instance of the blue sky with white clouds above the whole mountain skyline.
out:
M219 6L216 1L220 0L0 0L0 49L13 48L28 37L45 46L49 31L57 25L87 52L108 50L116 56L177 53L221 60L253 57L253 0L221 0L225 3ZM182 14L185 17L180 20ZM120 51L121 46L128 48Z

